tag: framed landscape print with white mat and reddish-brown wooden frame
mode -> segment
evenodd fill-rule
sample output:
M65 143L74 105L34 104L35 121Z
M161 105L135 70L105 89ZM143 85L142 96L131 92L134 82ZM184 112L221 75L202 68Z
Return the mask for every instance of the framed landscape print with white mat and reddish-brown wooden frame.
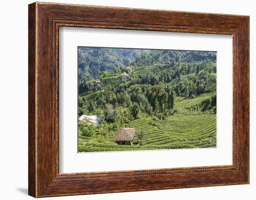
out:
M29 195L249 183L249 17L29 5Z

